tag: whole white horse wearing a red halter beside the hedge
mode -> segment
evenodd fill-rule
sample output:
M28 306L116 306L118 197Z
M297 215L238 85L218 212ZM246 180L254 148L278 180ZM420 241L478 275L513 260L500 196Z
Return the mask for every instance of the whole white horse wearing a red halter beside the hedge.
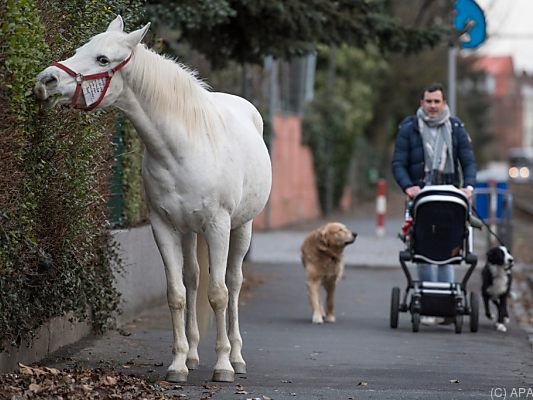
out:
M199 362L198 235L207 242L207 297L217 328L213 380L232 382L246 373L242 261L272 181L263 120L248 101L209 92L190 70L141 45L149 25L125 33L118 16L74 56L39 73L34 94L51 106L115 106L132 121L146 147L146 201L167 277L174 343L166 379L185 382Z

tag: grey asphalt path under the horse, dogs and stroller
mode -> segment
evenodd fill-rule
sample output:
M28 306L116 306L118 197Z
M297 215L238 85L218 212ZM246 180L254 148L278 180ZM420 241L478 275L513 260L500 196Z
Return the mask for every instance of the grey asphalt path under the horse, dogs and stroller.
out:
M247 375L235 383L209 382L215 361L210 332L200 346L200 368L167 393L216 400L533 397L533 350L514 320L505 334L484 317L477 333L469 331L468 320L462 334L453 326L421 326L413 333L409 314L401 313L398 329L390 329L390 290L405 282L399 268L348 267L337 293L337 322L324 325L311 324L300 265L246 268L250 281L261 282L241 307ZM167 307L143 314L121 332L83 340L46 363L103 362L162 379L171 360Z

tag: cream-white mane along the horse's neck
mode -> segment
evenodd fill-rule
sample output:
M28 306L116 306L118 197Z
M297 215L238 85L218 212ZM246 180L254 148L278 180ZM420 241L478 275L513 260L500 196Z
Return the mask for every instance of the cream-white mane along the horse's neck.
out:
M222 119L195 71L141 44L130 64L133 90L153 109L177 116L189 134L215 132Z

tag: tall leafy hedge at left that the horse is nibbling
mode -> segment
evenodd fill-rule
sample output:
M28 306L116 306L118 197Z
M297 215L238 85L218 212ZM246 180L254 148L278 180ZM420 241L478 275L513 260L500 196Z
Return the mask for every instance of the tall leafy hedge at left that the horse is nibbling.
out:
M104 5L103 5L104 4ZM38 71L141 2L7 0L0 5L0 347L32 339L48 319L92 314L113 323L107 198L113 113L42 110Z

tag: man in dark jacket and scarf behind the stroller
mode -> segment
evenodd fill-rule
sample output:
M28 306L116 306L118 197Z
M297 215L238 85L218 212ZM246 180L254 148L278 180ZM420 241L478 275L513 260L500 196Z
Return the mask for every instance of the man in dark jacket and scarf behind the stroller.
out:
M476 181L472 142L464 124L450 115L444 89L434 83L422 92L416 115L399 125L392 159L394 179L409 198L425 185L454 185L470 199ZM453 282L452 265L418 264L423 281Z

